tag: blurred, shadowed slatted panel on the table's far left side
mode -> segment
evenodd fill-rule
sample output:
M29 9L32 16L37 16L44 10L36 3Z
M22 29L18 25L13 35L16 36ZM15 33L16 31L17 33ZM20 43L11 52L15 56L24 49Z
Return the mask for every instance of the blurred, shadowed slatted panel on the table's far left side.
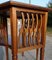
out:
M4 17L0 19L0 43L7 44L7 21Z

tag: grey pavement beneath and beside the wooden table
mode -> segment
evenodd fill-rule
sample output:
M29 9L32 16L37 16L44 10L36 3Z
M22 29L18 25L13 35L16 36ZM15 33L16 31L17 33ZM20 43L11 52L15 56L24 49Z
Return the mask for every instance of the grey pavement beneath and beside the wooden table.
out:
M12 60L11 56L12 56L11 50L9 49L9 60ZM4 47L1 46L0 46L0 60L6 60ZM21 53L18 54L18 60L36 60L35 50L25 52L23 57ZM47 36L45 48L45 60L52 60L52 36Z

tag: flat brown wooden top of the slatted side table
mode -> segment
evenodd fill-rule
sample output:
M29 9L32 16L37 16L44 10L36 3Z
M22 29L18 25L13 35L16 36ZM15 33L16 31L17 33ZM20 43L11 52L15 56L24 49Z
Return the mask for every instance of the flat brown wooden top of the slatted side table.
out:
M0 4L0 9L9 8L9 7L16 7L16 8L19 7L19 8L26 8L26 9L32 9L32 10L40 10L40 11L52 11L52 8L45 8L41 6L36 6L36 5L21 3L16 1L7 1Z

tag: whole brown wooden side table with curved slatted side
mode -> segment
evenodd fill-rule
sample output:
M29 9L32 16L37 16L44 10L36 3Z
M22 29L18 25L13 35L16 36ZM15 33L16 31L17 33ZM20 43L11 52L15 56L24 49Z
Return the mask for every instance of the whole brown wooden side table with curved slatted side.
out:
M52 11L13 1L0 4L0 45L6 47L6 60L8 48L12 50L12 60L18 60L18 52L24 55L25 51L32 49L36 49L36 60L39 49L40 60L44 60L48 10ZM11 45L8 44L7 18L11 24ZM20 29L18 21L21 22Z

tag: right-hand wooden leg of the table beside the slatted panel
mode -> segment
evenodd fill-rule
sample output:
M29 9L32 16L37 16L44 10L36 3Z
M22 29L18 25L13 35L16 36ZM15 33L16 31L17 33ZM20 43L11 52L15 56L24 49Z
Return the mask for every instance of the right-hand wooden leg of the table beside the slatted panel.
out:
M47 17L48 17L48 13L46 12L45 15L42 16L41 43L44 47L42 47L40 49L40 60L44 60L44 48L45 48L45 41L46 41Z

